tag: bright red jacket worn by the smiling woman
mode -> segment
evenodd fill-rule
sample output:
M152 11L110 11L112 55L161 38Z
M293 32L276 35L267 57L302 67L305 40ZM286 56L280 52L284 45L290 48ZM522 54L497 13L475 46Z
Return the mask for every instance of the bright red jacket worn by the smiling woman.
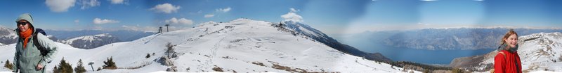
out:
M499 54L503 52L503 54ZM499 51L494 59L494 70L496 73L521 73L521 59L517 51L511 53L507 50Z

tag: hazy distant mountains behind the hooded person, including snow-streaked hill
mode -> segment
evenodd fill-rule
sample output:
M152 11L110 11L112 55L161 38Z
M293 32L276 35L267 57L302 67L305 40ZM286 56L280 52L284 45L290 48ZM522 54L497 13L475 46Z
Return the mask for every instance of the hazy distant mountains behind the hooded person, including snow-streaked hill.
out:
M144 38L155 33L144 31L100 31L100 30L81 30L81 31L55 31L45 30L47 37L55 42L70 44L72 47L80 49L93 49L111 44L113 42L124 42ZM13 44L17 42L18 35L14 29L0 26L0 44Z

